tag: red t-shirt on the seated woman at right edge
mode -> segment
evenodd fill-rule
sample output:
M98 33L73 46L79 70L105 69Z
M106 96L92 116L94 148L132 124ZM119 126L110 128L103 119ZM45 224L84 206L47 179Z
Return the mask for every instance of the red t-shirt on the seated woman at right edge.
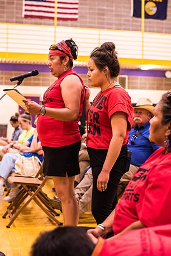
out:
M171 153L164 151L156 150L132 176L115 209L115 234L138 220L147 227L171 224Z

